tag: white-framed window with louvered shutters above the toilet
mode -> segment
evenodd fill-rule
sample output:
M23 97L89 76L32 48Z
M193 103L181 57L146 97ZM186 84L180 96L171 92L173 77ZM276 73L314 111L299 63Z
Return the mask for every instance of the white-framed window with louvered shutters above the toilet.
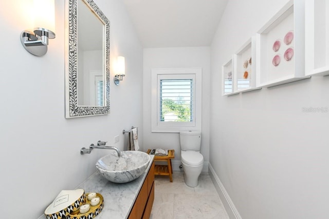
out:
M198 128L201 108L200 68L152 69L152 132Z

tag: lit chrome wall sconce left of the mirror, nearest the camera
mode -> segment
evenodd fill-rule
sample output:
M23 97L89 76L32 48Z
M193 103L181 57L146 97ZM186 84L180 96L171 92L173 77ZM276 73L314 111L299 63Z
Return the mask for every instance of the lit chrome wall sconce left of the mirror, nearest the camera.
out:
M54 0L33 0L34 30L21 33L21 43L31 54L42 56L47 53L48 39L55 38Z

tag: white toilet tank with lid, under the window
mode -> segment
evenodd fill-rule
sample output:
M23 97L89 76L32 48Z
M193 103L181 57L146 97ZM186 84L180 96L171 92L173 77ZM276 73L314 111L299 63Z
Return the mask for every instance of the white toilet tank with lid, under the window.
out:
M201 146L200 131L180 131L179 132L180 150L199 151Z

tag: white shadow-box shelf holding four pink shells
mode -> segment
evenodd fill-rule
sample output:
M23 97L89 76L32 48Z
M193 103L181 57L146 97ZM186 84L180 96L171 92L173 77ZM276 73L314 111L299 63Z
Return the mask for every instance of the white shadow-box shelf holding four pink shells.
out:
M290 0L256 37L256 87L272 87L305 76L303 1Z

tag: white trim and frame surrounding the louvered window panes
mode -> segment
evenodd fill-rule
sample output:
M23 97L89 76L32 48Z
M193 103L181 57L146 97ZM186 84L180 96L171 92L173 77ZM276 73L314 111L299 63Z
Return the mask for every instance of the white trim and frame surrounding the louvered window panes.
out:
M187 76L187 78L184 77ZM193 77L194 87L194 115L193 122L160 122L160 88L161 79ZM202 128L202 69L201 68L153 68L151 74L151 131L178 133L180 130L199 130Z

